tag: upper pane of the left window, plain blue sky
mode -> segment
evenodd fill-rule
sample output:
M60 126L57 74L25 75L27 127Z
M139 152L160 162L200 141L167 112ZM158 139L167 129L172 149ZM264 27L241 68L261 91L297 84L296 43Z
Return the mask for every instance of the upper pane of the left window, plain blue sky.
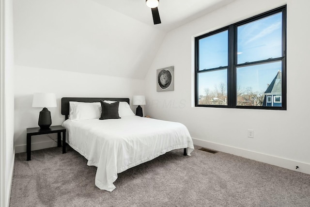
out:
M228 31L199 40L199 70L228 65Z

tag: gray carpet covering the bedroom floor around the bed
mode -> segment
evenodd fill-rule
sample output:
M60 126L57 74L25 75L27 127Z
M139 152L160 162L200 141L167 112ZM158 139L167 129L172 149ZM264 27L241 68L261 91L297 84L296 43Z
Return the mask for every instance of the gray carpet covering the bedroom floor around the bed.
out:
M310 175L218 152L173 150L118 175L112 192L69 146L16 154L11 207L310 207Z

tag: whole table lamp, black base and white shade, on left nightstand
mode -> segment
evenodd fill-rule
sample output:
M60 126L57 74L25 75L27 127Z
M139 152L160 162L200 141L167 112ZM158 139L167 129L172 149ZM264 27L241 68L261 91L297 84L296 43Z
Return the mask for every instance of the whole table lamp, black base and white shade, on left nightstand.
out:
M38 125L40 128L49 128L52 125L50 111L47 107L56 107L56 96L51 93L34 93L32 100L32 107L43 107L40 111Z

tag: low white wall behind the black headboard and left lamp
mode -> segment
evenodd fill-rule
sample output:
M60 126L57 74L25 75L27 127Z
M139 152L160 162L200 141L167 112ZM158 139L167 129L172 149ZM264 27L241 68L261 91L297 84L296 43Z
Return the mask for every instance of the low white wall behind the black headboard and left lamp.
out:
M16 153L26 152L26 128L38 127L41 108L32 108L33 93L55 93L57 107L48 108L52 125L62 125L62 97L128 97L143 94L144 80L76 73L16 65L15 70ZM134 109L134 107L132 107ZM134 111L134 110L133 110ZM53 139L57 139L52 134ZM47 135L31 138L31 150L56 146Z

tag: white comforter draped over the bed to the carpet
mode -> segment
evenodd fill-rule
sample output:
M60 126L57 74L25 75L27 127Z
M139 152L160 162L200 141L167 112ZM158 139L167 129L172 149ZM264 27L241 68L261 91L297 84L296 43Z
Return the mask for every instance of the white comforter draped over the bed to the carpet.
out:
M67 143L96 166L95 185L113 191L117 174L173 149L194 150L187 128L180 123L127 116L107 120L66 120Z

